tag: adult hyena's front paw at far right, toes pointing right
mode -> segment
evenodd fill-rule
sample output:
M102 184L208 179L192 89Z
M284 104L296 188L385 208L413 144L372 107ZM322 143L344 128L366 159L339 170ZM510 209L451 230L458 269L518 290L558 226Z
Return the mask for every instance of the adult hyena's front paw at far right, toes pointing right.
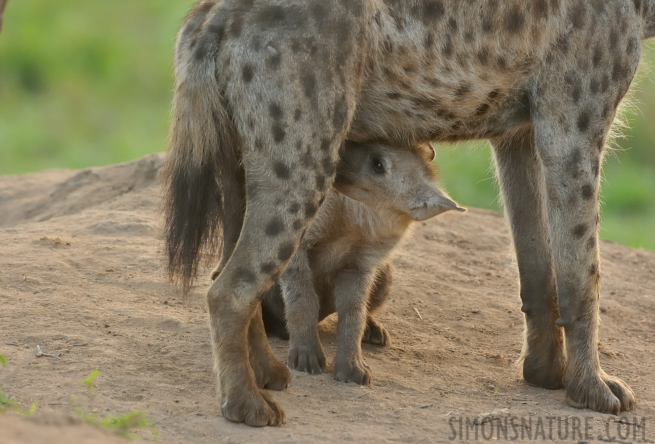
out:
M618 415L635 407L635 395L622 380L601 370L599 376L567 380L566 400L571 407Z

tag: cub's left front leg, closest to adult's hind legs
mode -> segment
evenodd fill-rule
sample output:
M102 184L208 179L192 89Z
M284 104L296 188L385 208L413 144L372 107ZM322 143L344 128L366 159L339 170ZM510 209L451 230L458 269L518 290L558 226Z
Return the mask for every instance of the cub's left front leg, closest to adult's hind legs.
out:
M307 249L303 246L282 273L280 287L289 331L287 365L307 373L322 373L326 356L318 337L320 298L314 289Z

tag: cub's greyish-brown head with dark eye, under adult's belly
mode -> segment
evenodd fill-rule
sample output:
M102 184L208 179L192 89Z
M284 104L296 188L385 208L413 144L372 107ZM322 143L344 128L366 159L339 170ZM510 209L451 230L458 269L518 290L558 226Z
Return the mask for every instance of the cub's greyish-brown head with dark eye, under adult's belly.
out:
M333 187L372 208L402 213L415 221L448 210L466 211L437 186L430 145L396 147L346 141Z

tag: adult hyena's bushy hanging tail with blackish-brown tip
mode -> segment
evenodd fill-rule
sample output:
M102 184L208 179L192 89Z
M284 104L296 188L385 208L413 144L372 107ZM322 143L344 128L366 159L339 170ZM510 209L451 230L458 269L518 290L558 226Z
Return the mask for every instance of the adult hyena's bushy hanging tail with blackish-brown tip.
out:
M178 48L179 49L179 48ZM178 51L173 121L162 166L168 275L189 293L200 263L229 259L244 219L240 138L216 79L215 56Z

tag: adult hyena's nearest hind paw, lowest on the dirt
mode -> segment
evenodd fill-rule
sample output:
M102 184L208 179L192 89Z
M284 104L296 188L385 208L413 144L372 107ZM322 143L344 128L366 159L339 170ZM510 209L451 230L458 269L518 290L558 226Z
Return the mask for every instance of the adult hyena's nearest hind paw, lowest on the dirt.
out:
M235 390L221 396L223 418L232 422L245 422L249 426L281 426L286 415L270 393L256 389Z

